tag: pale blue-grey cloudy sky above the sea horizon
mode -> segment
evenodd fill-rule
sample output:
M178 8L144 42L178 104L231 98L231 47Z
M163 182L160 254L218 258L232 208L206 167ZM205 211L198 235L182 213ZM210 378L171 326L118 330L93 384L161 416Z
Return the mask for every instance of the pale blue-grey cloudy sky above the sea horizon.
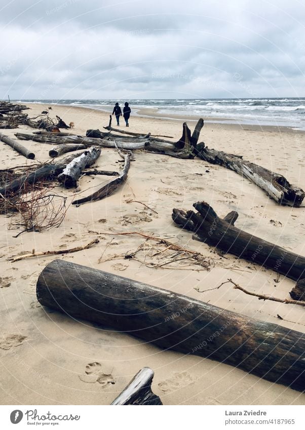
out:
M0 99L304 97L302 0L0 0Z

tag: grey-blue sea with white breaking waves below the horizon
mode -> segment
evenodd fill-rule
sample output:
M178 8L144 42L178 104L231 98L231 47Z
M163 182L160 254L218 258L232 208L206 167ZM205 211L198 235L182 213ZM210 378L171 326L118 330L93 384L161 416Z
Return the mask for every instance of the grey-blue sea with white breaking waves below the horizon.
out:
M153 109L153 115L172 118L179 115L204 118L205 122L258 126L291 127L305 131L304 98L234 98L234 99L151 99L151 100L19 100L27 103L63 104L111 111L116 102L128 101L133 114ZM141 112L143 115L145 111ZM149 115L151 116L151 114ZM193 118L194 119L194 118Z

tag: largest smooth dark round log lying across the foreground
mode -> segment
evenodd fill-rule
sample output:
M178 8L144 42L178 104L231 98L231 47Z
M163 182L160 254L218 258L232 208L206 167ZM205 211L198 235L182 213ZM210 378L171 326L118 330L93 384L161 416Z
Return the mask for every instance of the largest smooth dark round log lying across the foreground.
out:
M73 319L305 388L305 335L297 331L62 260L44 268L36 295L42 305Z

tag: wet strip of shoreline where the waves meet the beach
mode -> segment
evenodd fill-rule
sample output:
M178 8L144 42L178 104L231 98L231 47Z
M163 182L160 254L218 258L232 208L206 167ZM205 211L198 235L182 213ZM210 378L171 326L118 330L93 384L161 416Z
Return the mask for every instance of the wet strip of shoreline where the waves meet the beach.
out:
M22 101L25 105L46 105L49 106L47 103L43 102L25 102ZM99 107L94 107L94 105L75 105L75 104L61 104L61 103L50 103L51 106L66 106L70 108L84 108L84 109L91 109L93 111L98 112L104 112L107 114L111 114L112 108L110 105L105 105ZM105 107L109 107L109 110L105 110ZM137 106L133 107L132 115L139 116L140 118L153 118L153 119L160 119L160 120L168 120L168 121L183 121L183 122L190 122L195 123L199 120L199 118L203 118L205 125L219 125L224 128L236 128L239 130L252 130L252 131L263 131L263 132L269 132L269 131L280 131L280 132L290 132L290 133L305 133L305 130L301 130L298 128L294 128L293 126L275 126L275 125L258 125L258 124L247 124L247 123L241 123L237 119L234 118L227 118L227 117L217 117L217 116L206 116L206 115L179 115L179 114L170 114L167 115L165 113L158 113L158 108L154 107L139 107ZM235 121L232 123L228 123L227 121Z

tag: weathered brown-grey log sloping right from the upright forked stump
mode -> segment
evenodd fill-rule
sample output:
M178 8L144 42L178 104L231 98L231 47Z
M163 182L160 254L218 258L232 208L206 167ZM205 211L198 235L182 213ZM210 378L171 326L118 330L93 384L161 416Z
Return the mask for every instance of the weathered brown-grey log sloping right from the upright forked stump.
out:
M305 192L291 185L284 176L243 160L241 155L209 149L203 142L197 145L196 151L202 160L224 166L254 182L280 205L299 207L305 197Z

